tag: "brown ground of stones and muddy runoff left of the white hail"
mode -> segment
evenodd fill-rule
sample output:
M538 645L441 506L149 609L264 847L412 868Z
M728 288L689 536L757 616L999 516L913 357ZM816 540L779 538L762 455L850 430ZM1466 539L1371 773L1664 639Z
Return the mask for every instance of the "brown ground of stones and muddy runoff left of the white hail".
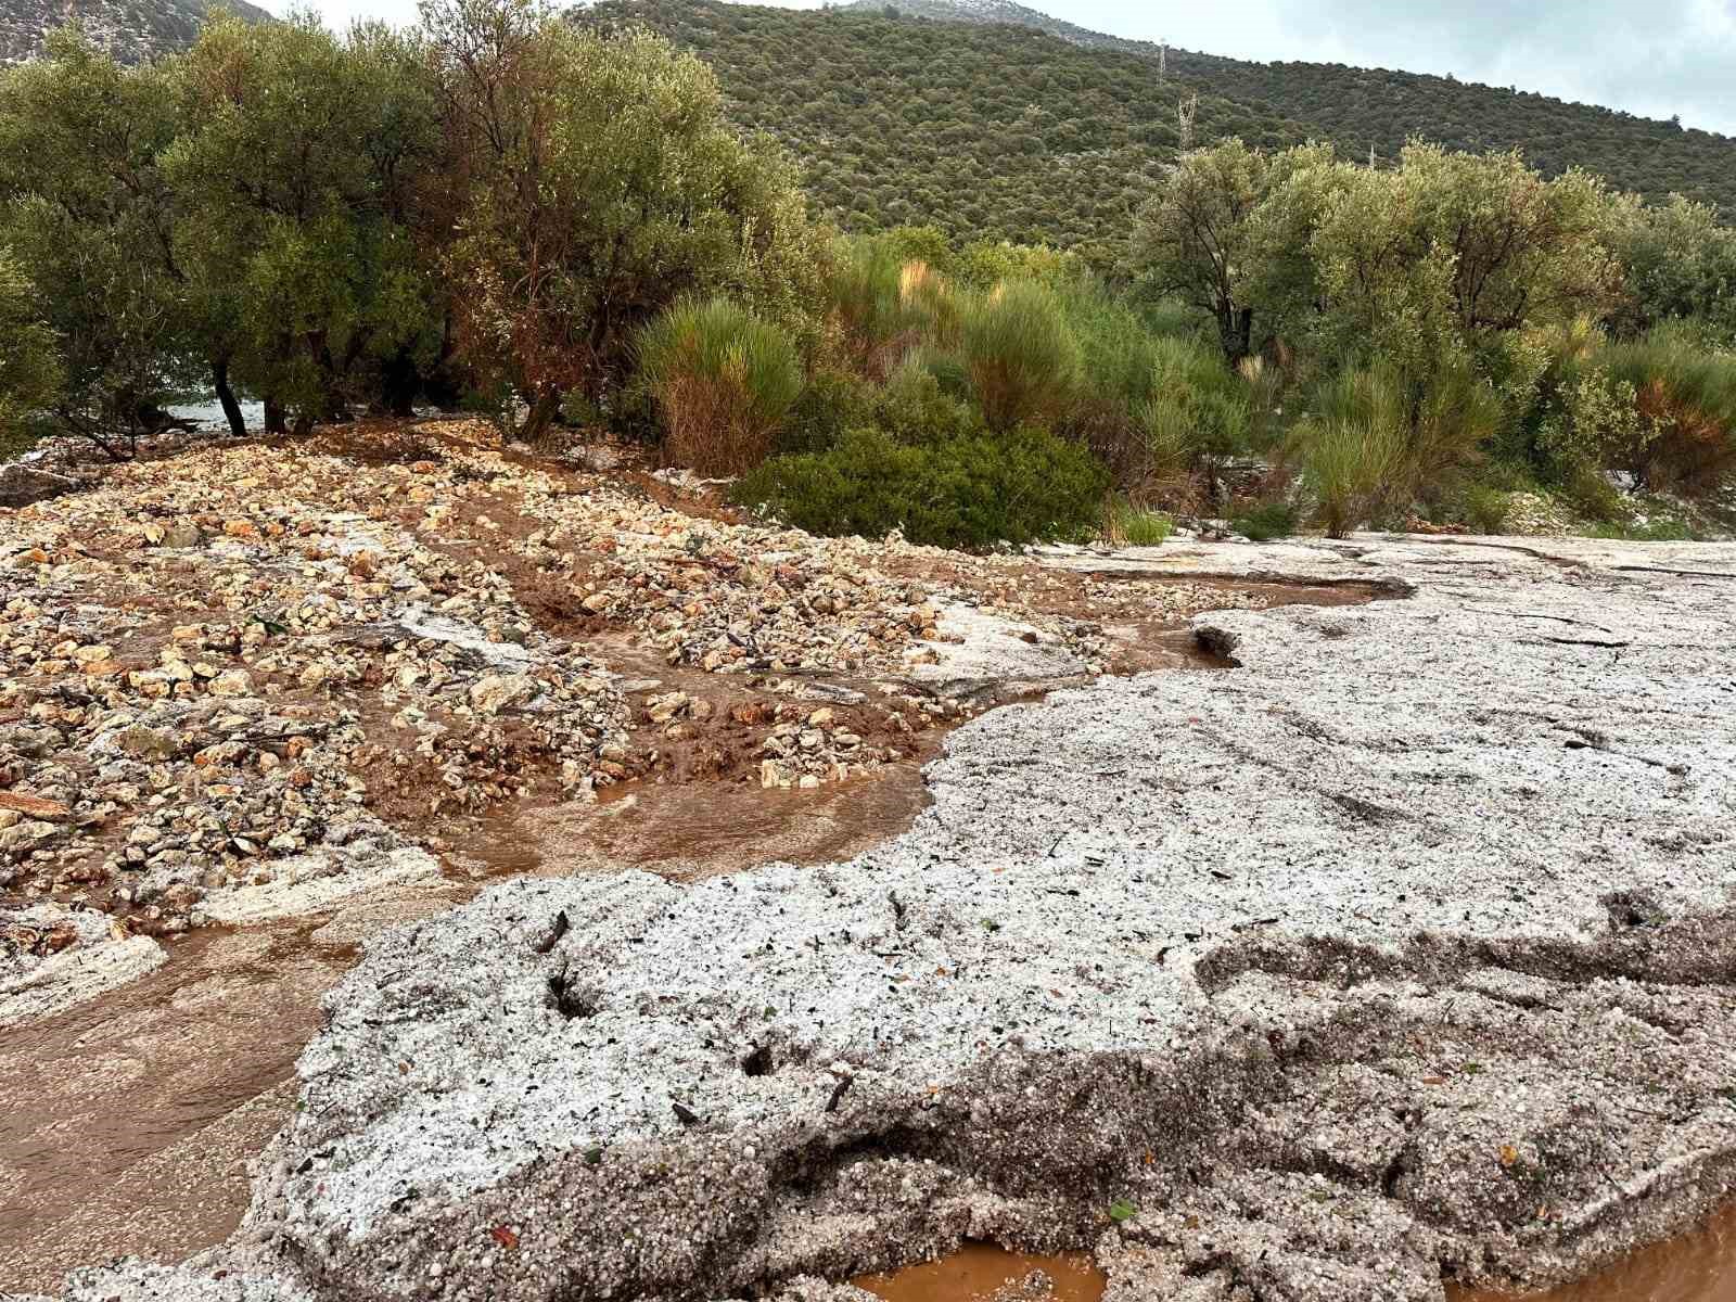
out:
M377 927L851 859L983 710L1220 667L1203 608L1368 595L812 540L465 422L0 512L0 1286L220 1241ZM976 616L1005 646L953 674Z

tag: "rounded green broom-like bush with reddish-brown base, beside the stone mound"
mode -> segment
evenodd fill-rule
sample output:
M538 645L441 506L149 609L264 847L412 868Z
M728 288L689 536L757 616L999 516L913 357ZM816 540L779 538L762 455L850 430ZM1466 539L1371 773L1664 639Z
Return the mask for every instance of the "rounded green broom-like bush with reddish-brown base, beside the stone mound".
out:
M740 474L771 451L802 392L788 332L727 299L682 300L639 333L639 373L663 413L663 448L700 474Z

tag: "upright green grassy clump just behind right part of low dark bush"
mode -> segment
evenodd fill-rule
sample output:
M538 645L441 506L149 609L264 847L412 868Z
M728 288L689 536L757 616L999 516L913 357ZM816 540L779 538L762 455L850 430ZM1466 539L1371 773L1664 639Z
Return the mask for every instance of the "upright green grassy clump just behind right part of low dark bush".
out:
M958 352L990 429L1052 424L1080 375L1080 345L1052 290L1009 281L963 306Z

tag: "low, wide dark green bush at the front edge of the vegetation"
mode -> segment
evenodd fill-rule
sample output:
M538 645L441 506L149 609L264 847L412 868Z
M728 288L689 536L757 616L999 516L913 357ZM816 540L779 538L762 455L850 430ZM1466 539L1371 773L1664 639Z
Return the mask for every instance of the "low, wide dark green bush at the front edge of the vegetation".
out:
M799 529L986 549L1000 542L1083 538L1101 524L1108 474L1083 448L1038 429L927 446L877 429L832 451L774 457L733 498Z

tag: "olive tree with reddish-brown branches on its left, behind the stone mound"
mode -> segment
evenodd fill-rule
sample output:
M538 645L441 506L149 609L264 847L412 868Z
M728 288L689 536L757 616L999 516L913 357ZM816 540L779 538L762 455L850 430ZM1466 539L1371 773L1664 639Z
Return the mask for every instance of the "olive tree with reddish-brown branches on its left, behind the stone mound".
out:
M531 0L436 0L457 194L458 345L529 403L602 399L632 340L682 295L727 293L793 323L814 295L790 168L726 122L717 80L641 31L575 26Z

